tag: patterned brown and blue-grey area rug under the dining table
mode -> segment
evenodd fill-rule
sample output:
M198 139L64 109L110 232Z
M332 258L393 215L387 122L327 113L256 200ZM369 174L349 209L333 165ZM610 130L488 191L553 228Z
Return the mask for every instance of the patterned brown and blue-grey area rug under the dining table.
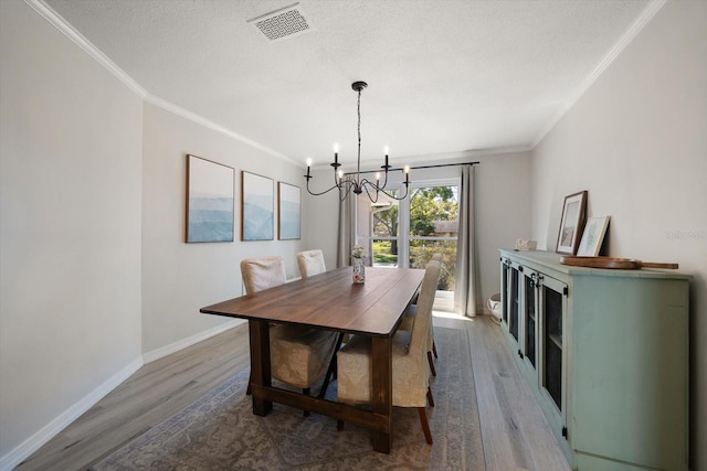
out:
M440 357L428 407L434 445L414 408L393 410L390 454L372 450L370 430L274 404L253 415L249 371L219 385L162 424L93 465L128 470L485 470L474 375L464 330L435 328ZM336 382L327 393L336 397Z

